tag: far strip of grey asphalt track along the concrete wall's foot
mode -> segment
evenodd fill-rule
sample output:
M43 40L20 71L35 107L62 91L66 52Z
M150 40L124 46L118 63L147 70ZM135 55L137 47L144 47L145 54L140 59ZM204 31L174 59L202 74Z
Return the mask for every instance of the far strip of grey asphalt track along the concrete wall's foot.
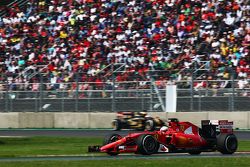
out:
M104 137L110 133L118 133L122 136L127 135L128 133L138 132L133 130L122 130L122 131L113 131L113 130L97 130L97 129L2 129L0 130L0 137L4 136L68 136L68 137ZM239 140L250 140L250 131L235 131L234 134Z

